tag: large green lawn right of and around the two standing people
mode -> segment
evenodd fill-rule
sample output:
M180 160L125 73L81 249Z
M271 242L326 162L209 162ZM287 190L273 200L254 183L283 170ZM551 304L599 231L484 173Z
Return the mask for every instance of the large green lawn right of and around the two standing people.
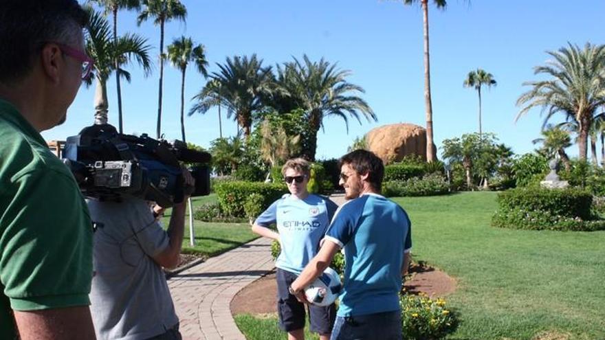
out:
M605 231L491 227L494 192L395 201L410 214L415 259L457 281L448 300L461 326L450 339L605 339ZM276 319L251 320L236 318L248 339L283 338L254 335Z

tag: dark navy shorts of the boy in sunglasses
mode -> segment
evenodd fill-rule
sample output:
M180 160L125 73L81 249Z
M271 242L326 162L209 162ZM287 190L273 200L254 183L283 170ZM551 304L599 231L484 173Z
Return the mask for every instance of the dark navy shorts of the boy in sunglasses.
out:
M298 302L296 297L288 291L288 287L296 280L298 275L278 268L276 277L279 328L286 332L305 328L305 304ZM309 305L311 332L320 335L330 334L335 319L336 306L334 304L326 307Z

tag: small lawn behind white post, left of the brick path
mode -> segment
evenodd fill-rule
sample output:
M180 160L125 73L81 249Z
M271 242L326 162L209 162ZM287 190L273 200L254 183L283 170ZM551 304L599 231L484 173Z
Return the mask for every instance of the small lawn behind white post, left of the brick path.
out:
M217 200L216 194L193 198L193 207ZM170 209L166 210L162 225L170 223ZM205 223L193 221L195 229L195 247L189 245L189 209L185 216L185 237L183 238L184 253L198 253L203 256L216 256L230 249L239 247L259 236L250 231L248 223Z

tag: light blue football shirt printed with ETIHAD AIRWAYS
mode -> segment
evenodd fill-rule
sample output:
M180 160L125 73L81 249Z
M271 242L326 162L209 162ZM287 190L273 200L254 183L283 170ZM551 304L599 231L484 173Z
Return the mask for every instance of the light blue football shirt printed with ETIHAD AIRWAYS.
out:
M285 194L256 218L256 225L277 225L281 253L275 267L300 274L316 256L338 205L329 199L309 194L305 199Z

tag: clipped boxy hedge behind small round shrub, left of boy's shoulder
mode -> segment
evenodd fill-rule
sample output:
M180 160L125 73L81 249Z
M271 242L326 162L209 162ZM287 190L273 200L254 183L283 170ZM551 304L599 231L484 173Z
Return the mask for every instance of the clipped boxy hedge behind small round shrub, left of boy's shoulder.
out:
M252 194L263 196L263 210L271 203L287 193L283 183L261 183L261 182L223 182L217 184L215 190L218 196L221 211L229 216L244 217L244 204Z

